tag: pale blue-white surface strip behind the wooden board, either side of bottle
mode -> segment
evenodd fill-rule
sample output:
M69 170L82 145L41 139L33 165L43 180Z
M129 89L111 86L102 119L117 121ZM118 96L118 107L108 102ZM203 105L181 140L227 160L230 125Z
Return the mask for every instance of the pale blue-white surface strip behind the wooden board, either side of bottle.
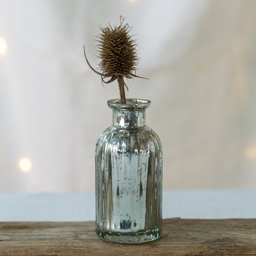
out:
M163 218L256 218L256 190L163 191ZM95 194L0 194L0 221L95 220Z

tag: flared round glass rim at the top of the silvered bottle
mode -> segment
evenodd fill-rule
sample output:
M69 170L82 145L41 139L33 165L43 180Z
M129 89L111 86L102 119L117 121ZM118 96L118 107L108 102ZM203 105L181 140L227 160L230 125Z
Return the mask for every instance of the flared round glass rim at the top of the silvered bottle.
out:
M150 100L139 98L127 98L126 104L122 104L120 98L108 100L110 109L116 110L144 110L149 107L150 103Z

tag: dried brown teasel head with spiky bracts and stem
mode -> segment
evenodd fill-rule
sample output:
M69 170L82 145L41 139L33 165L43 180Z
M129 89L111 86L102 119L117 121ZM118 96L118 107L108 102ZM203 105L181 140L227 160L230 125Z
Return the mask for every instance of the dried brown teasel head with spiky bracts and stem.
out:
M87 60L89 67L101 76L102 83L109 84L115 80L118 82L121 103L126 104L124 86L128 86L124 82L124 78L131 79L137 76L136 70L139 58L137 56L137 44L128 33L131 27L128 24L122 25L123 18L120 16L120 26L112 28L109 26L103 28L100 26L101 34L97 36L98 41L98 58L101 59L99 69L102 73L96 71ZM85 52L85 46L84 46ZM105 78L110 78L105 81Z

